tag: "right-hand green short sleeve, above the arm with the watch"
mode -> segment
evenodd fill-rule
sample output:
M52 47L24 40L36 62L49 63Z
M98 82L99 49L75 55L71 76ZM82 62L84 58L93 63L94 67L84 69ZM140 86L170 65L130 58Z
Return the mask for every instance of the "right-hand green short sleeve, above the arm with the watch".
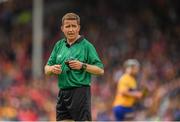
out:
M88 64L91 64L91 65L96 65L100 68L104 68L101 60L99 59L99 56L96 52L96 49L94 48L94 46L92 44L89 44L87 46L88 50L87 50L87 59L88 59Z

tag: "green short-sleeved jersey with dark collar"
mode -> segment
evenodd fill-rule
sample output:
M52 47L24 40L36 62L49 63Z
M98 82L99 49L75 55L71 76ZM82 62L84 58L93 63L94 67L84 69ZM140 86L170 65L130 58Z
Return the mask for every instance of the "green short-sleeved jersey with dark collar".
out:
M49 57L47 65L60 64L62 73L58 75L58 86L60 89L72 87L90 86L91 74L84 70L73 70L66 65L68 60L79 60L90 65L103 68L103 64L98 57L94 46L83 36L75 41L71 46L66 38L59 40Z

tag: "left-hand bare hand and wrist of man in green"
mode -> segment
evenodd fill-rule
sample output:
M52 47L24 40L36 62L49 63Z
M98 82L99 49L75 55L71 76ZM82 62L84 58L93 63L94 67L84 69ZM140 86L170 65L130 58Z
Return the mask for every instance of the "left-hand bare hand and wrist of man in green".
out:
M59 75L61 74L62 69L61 69L61 65L52 65L52 66L45 66L45 74L50 75L50 74L56 74Z

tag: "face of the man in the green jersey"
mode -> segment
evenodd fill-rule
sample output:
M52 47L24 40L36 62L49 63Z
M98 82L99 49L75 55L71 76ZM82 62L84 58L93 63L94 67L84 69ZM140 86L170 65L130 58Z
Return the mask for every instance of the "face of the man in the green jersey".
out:
M64 20L61 30L68 41L73 42L79 35L80 25L77 23L77 20Z

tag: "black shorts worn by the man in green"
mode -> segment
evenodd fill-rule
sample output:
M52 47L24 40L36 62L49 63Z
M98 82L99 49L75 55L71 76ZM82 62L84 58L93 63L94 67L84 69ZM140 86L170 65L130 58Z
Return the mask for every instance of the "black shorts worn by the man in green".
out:
M57 98L56 120L91 121L90 87L60 90Z

